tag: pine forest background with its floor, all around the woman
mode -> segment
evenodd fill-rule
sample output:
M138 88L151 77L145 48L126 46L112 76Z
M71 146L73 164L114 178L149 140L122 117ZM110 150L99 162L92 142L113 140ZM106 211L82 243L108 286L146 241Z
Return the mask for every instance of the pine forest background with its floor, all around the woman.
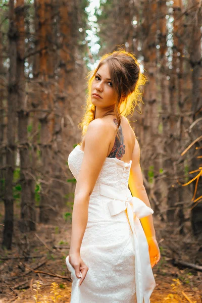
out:
M87 73L119 49L147 78L127 118L161 251L151 303L202 302L201 35L201 0L0 0L0 302L70 302L67 159Z

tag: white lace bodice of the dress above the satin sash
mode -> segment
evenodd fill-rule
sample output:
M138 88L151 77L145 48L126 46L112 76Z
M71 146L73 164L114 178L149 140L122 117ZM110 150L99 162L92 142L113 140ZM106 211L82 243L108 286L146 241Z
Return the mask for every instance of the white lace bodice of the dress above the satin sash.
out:
M80 149L80 145L77 145L68 157L68 165L75 179L78 178L83 155L84 151ZM119 190L126 190L128 188L131 164L132 160L127 163L117 158L106 158L96 180L95 188L99 183L103 183Z

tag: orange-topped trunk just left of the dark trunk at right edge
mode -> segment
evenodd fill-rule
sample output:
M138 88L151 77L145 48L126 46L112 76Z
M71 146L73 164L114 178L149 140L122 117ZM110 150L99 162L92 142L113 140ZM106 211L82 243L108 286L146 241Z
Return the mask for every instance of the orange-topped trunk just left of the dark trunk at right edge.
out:
M177 222L178 218L178 207L177 203L179 201L179 185L177 183L178 179L178 165L177 160L180 157L179 148L179 135L177 133L176 121L179 119L180 111L178 107L178 74L179 74L179 60L178 60L178 46L179 38L178 32L180 31L180 21L179 14L181 9L181 0L175 0L173 3L173 58L169 66L169 117L168 117L168 135L167 142L165 145L165 153L167 154L166 170L168 171L168 210L167 218L169 222ZM183 165L183 161L182 161Z

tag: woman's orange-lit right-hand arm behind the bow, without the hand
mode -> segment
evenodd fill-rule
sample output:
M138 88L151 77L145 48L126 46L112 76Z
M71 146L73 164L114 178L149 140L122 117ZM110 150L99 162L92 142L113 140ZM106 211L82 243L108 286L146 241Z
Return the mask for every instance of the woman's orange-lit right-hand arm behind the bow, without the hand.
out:
M132 195L141 199L148 207L151 207L146 193L146 189L143 185L143 178L139 160L140 148L137 139L135 139L135 146L132 153L132 165L130 169L128 184ZM152 215L141 218L140 221L144 229L146 238L156 237Z

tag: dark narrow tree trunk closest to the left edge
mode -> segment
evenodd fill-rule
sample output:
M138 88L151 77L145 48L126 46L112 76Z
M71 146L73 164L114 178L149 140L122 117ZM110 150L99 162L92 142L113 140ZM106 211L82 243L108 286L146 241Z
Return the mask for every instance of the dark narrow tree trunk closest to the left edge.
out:
M3 245L11 249L13 236L13 173L15 169L15 130L16 130L16 104L17 104L17 30L14 13L14 0L9 2L9 80L8 80L8 127L6 147L6 179L5 179L5 226Z

